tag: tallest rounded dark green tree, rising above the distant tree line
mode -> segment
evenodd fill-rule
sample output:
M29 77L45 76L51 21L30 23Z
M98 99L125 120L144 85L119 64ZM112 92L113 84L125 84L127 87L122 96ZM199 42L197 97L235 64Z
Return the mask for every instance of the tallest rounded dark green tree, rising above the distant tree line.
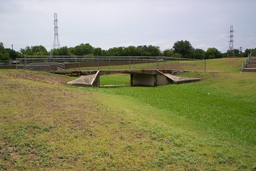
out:
M174 48L175 53L181 54L182 57L191 58L193 47L191 46L189 41L177 41L174 43L174 46L172 48Z

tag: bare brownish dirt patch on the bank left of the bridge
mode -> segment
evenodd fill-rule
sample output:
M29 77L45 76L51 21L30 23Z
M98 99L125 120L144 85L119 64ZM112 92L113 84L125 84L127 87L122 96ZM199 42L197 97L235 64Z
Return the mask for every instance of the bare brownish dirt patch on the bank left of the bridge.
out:
M43 75L36 72L6 72L5 75L14 78L30 79L53 85L66 85L67 82L70 81L69 78L60 75Z

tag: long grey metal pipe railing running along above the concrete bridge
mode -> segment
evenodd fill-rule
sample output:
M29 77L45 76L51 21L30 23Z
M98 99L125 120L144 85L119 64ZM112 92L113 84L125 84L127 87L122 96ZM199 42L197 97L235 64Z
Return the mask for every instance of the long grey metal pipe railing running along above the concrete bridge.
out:
M59 57L59 58L57 58ZM81 57L81 58L78 58ZM80 64L82 63L87 63L87 62L94 62L93 65L95 65L95 63L98 63L98 70L99 67L101 66L100 63L101 62L108 62L109 63L109 69L111 65L115 65L114 62L126 62L129 65L129 69L131 69L131 66L134 65L137 62L142 62L142 63L151 63L151 62L155 62L157 63L156 68L158 69L158 63L162 63L162 62L170 62L170 61L177 61L178 62L178 69L179 69L179 61L204 61L204 71L206 71L206 60L196 60L196 59L190 59L190 58L172 58L172 57L165 57L165 56L161 56L161 57L154 57L154 56L75 56L75 57L71 57L71 56L25 56L24 58L17 58L16 60L20 61L20 64L16 64L16 69L18 68L18 66L23 66L23 68L32 70L33 68L36 69L38 68L39 70L43 70L43 65L47 66L47 68L45 68L45 70L52 70L52 69L56 69L57 66L57 70L64 70L65 71L65 67L66 64L70 64L70 63L78 63L79 65L79 70L80 70ZM32 67L31 65L34 65L34 67ZM56 65L54 67L51 68L52 65ZM97 65L97 64L96 64ZM95 65L95 66L96 66ZM40 66L42 66L40 68ZM103 65L102 65L103 66ZM107 65L105 65L107 66ZM134 68L134 66L133 66Z

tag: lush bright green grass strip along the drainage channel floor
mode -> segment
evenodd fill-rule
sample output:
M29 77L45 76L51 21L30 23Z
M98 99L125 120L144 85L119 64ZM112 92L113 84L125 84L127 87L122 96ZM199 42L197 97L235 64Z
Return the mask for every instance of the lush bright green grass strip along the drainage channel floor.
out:
M214 73L203 75L213 77ZM217 75L193 84L94 90L132 96L171 114L210 125L217 131L226 132L225 136L256 144L256 92L251 91L256 80L245 78L251 75L248 73L240 73L240 78L236 75L230 78L221 73Z

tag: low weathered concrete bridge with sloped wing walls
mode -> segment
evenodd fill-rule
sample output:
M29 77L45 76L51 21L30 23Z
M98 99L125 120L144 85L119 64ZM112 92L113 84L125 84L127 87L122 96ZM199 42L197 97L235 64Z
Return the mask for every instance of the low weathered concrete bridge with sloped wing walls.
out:
M162 86L168 84L183 84L200 81L200 78L185 78L174 76L184 71L175 70L99 70L99 71L64 71L58 72L80 78L69 81L68 84L83 87L100 87L100 76L114 73L130 74L131 86ZM54 72L56 73L56 72Z

